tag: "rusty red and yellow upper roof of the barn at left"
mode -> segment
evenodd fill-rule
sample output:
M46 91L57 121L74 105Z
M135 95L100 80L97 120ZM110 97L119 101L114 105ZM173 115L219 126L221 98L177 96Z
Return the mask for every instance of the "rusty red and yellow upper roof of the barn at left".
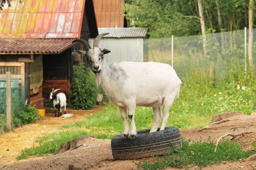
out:
M85 0L21 2L0 10L0 38L79 38Z

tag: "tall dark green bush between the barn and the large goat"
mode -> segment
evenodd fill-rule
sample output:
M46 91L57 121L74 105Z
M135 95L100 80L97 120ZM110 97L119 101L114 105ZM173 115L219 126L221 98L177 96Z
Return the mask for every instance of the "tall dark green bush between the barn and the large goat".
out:
M73 68L72 94L70 107L73 109L91 109L96 104L97 87L95 76L90 68L79 62Z

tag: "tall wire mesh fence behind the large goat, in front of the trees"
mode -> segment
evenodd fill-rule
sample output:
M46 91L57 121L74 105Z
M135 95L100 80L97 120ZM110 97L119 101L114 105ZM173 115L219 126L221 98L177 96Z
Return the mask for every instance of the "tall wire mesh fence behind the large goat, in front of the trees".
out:
M247 31L248 32L248 31ZM253 56L256 55L256 29L253 29ZM244 30L207 34L203 43L202 35L174 37L173 67L183 79L211 78L212 81L225 81L234 74L245 73L248 69L248 52L245 57ZM248 33L247 33L248 40ZM205 48L203 47L205 44ZM172 38L145 40L148 47L146 61L172 64ZM248 43L247 43L248 45ZM255 57L254 64L256 63ZM253 68L255 70L255 66Z

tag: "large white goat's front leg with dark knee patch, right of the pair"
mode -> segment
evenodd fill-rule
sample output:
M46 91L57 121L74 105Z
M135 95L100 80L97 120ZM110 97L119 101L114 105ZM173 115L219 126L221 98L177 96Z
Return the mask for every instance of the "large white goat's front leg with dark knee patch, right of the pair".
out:
M128 139L134 139L135 136L137 135L135 120L134 120L136 104L134 103L134 105L129 105L127 108L128 108L128 117L130 118L130 130L128 133Z

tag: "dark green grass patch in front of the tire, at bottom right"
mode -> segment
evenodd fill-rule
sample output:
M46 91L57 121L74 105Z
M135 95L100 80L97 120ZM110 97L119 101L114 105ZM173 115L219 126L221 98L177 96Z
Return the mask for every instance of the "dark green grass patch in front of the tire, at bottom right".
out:
M214 152L215 147L215 142L209 139L204 142L183 140L182 149L175 149L174 153L166 153L165 156L157 158L154 163L144 160L136 164L145 170L157 170L169 166L188 170L188 166L191 164L197 165L201 169L200 167L221 163L222 161L246 159L253 153L252 150L241 150L241 144L229 140L223 140L218 145L216 152Z

